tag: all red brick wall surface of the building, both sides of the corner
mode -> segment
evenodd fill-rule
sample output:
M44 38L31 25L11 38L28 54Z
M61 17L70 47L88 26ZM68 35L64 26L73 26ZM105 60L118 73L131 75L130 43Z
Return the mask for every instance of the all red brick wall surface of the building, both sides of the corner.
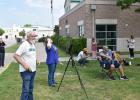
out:
M138 6L132 6L131 9L121 10L115 5L97 5L95 17L96 19L117 19L117 31L119 38L129 38L131 34L134 37L140 37L140 13L134 12ZM72 12L59 23L62 28L60 34L65 33L65 20L68 20L70 25L71 36L78 36L77 22L84 21L85 37L92 37L93 12L90 10L90 5L84 5L75 12ZM128 24L126 26L125 24Z

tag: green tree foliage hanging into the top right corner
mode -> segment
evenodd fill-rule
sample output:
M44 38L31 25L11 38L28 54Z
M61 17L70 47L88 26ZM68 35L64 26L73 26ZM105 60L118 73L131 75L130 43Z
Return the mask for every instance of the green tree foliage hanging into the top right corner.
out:
M129 8L134 3L140 3L140 0L118 0L117 6L120 6L121 9ZM136 12L140 12L140 8L135 10Z

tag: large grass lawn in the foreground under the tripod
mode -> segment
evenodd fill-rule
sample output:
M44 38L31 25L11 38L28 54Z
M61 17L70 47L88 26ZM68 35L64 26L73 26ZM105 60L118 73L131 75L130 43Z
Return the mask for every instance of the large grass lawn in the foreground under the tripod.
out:
M132 64L139 63L140 59L133 60ZM66 62L58 65L56 80L60 83ZM89 100L140 100L140 66L125 67L129 80L111 81L101 73L97 61L90 61L85 68L77 66L81 79L86 88ZM47 85L47 66L41 63L37 67L35 78L34 98L35 100L86 100L81 89L74 68L69 66L59 92L56 87ZM19 100L21 92L21 78L18 65L12 63L9 68L0 75L0 99Z

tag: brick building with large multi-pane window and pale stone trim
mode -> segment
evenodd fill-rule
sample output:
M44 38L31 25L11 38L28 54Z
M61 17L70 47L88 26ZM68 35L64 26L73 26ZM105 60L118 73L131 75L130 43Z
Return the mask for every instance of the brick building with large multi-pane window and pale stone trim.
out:
M60 34L86 37L89 50L91 38L95 37L98 48L107 45L117 51L128 51L126 40L133 35L136 40L135 50L140 51L140 13L135 12L140 4L121 10L116 6L116 1L81 0L60 17Z

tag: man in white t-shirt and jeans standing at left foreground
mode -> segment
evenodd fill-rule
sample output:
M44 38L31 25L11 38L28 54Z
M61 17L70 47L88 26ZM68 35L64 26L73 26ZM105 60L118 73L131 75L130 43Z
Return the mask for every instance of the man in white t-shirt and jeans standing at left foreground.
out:
M36 73L36 48L34 45L35 32L26 33L27 40L24 41L14 54L19 63L19 72L22 78L22 93L20 100L33 100L33 84Z

